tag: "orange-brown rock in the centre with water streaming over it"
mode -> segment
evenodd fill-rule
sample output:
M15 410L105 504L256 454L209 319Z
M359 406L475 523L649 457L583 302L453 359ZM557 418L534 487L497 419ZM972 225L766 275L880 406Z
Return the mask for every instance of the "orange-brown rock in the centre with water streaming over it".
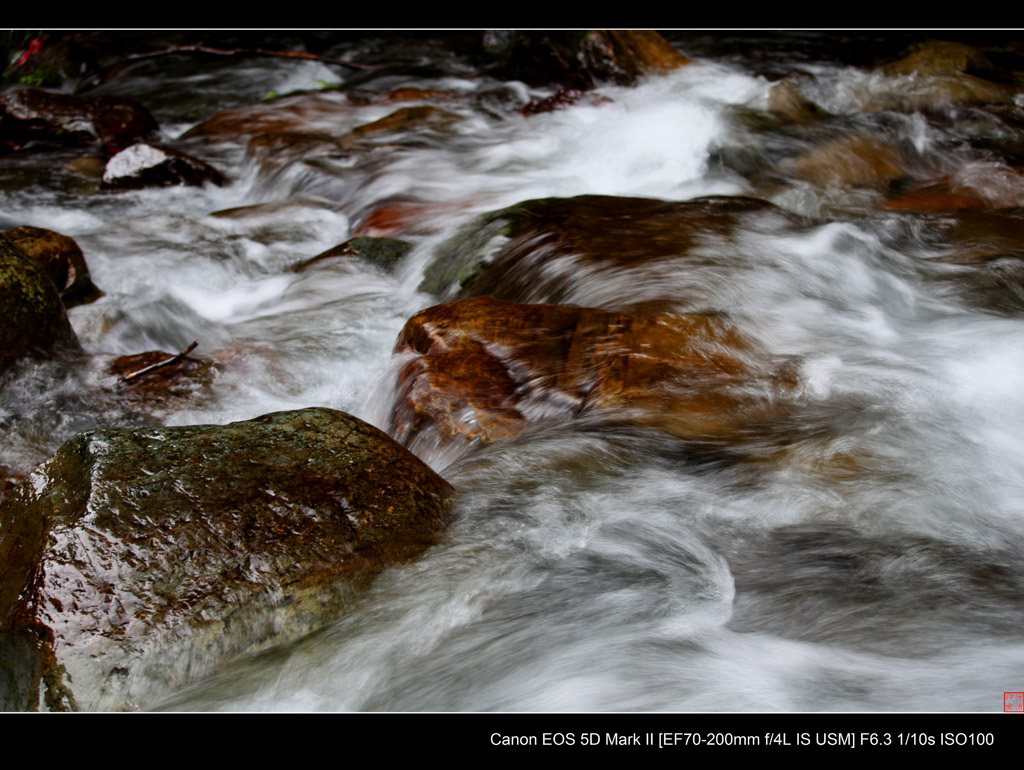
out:
M409 320L392 434L410 444L512 438L603 416L721 443L756 434L792 385L716 315L638 315L475 297ZM757 426L757 427L756 427Z

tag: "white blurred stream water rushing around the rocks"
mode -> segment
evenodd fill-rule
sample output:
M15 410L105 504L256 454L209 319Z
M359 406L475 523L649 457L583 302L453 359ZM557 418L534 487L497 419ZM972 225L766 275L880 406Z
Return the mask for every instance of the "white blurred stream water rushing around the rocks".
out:
M783 68L804 73L805 92L834 116L914 147L919 164L1009 184L1002 200L1024 202L1024 186L964 149L959 124L865 117L864 94L899 88L891 78L787 58L778 41L768 63L738 43L677 43L699 66L529 118L525 100L552 90L480 77L429 36L402 43L418 69L376 79L314 61L153 59L96 92L145 103L168 141L268 92L346 78L350 90L353 77L377 93L455 92L443 109L460 120L369 154L262 165L234 137L182 142L225 172L223 187L99 195L62 171L70 151L0 160L0 225L74 237L105 293L70 310L87 351L198 339L195 355L224 361L185 405L158 411L170 425L323 405L386 429L397 334L437 302L418 291L424 267L482 212L583 194L758 195L807 218L708 239L707 264L690 272L582 279L566 301L601 307L669 285L680 310L728 312L799 361L800 397L829 426L808 446L857 458L854 470L721 462L582 419L464 456L418 445L458 490L444 542L380 574L329 628L226 665L164 708L998 711L1004 691L1024 689L1024 314L929 280L922 265L948 246L912 217L874 210L869 191L788 184L767 196L721 161L793 152L798 139L751 128L770 70ZM382 60L387 45L368 35L333 54ZM322 97L347 103L345 89ZM395 109L367 100L326 128L341 134ZM431 214L393 273L354 259L289 270L348 239L371 204L398 198ZM132 424L81 395L103 376L99 365L69 375L43 363L9 383L5 461L31 468L77 431Z

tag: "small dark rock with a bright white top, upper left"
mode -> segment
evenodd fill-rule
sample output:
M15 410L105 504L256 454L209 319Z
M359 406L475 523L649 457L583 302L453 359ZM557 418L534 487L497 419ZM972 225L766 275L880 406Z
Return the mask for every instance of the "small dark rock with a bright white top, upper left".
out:
M223 184L224 177L213 166L169 147L138 143L121 151L106 162L101 189L140 189L175 184L201 186Z

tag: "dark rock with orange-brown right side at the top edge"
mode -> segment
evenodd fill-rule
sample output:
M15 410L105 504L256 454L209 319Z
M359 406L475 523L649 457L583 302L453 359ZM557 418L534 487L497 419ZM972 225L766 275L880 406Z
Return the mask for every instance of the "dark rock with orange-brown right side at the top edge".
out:
M690 63L656 32L600 30L522 32L509 44L507 79L588 90L601 83L635 85Z

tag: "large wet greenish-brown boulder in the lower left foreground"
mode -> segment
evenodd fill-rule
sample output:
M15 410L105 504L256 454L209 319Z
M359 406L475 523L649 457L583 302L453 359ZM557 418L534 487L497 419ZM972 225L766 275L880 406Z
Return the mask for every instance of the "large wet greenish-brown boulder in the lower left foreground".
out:
M81 433L0 505L0 705L154 705L337 617L437 541L451 497L328 409Z

